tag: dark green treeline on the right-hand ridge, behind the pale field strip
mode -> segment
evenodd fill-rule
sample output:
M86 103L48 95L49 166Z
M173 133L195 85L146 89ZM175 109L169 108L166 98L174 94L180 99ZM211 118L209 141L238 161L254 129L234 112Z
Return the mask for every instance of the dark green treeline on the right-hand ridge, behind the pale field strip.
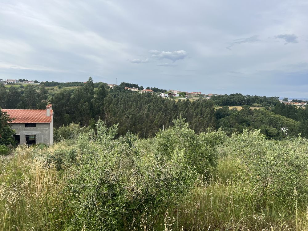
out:
M213 103L217 106L260 106L273 107L279 102L279 97L266 97L257 95L242 95L239 93L230 95L213 95L211 97ZM255 104L255 105L253 105Z

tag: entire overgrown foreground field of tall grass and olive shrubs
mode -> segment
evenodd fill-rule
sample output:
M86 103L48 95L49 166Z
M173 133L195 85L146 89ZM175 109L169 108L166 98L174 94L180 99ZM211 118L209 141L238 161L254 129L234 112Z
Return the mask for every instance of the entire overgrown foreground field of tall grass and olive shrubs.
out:
M0 161L1 230L308 230L308 141L71 124Z

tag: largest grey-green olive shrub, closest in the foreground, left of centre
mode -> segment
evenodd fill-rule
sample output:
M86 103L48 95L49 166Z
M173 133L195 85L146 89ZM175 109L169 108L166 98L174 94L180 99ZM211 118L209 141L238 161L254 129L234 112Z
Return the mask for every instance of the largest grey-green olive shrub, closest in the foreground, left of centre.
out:
M154 229L151 225L167 208L176 208L198 174L179 149L166 156L131 148L114 140L116 126L107 129L101 120L96 130L95 139L83 134L75 141L81 164L65 175L69 227L132 230L146 224Z

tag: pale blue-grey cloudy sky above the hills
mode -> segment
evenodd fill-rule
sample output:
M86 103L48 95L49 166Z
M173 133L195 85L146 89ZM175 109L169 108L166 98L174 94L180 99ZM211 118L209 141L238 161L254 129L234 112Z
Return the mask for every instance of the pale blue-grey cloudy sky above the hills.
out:
M0 0L0 78L308 97L307 0Z

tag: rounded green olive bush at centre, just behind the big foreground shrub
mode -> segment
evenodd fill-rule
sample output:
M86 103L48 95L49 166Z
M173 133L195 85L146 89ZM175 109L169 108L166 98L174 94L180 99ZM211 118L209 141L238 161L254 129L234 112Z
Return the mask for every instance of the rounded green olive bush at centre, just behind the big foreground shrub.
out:
M188 128L185 119L180 118L173 123L174 126L156 134L152 149L165 156L172 155L176 149L183 150L187 164L208 177L217 166L216 148L226 137L225 133L219 130L197 135Z

